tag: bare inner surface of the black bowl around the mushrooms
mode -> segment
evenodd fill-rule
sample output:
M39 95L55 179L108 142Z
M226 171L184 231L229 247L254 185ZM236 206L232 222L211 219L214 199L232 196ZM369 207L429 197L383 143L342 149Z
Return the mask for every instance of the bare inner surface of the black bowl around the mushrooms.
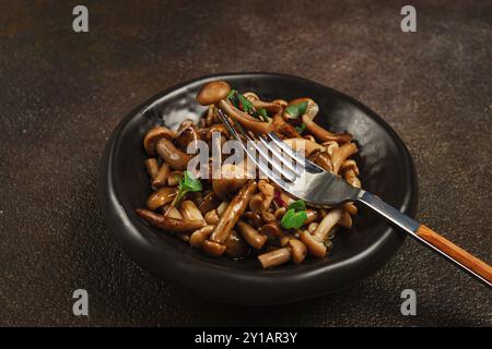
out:
M241 92L253 91L266 100L290 100L304 96L316 100L320 110L316 122L330 131L348 131L354 135L360 148L355 159L361 171L362 186L400 210L411 216L415 214L417 183L408 151L395 132L368 108L339 92L298 77L272 74L231 74L221 77ZM395 233L385 221L360 205L354 227L337 233L328 257L307 258L301 265L286 264L270 270L262 270L253 257L243 261L208 257L176 238L142 222L134 209L144 205L151 192L143 166L147 158L142 147L143 136L156 124L176 129L186 119L197 121L206 108L196 103L195 96L203 83L213 79L216 77L200 79L157 95L128 116L115 131L109 165L114 195L127 216L125 218L128 224L137 228L132 233L138 237L133 238L145 240L157 253L168 255L169 251L174 251L186 264L206 265L215 270L233 270L235 275L249 274L269 280L285 275L336 269L337 266L358 261L358 256L366 256L382 243L394 250L390 254L399 248L403 234ZM148 267L149 265L147 263ZM364 269L364 266L360 267ZM157 270L159 266L154 269Z

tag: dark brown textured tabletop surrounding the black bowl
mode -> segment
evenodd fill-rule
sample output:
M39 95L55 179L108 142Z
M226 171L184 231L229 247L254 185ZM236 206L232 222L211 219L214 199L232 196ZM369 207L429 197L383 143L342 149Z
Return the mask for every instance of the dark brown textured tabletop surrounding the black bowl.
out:
M89 34L71 31L78 2L0 3L1 325L492 325L490 290L411 240L337 294L206 301L122 254L96 202L105 142L142 100L209 73L291 73L382 115L415 161L419 218L491 263L490 3L413 2L417 34L400 32L398 1L84 3ZM89 318L71 313L77 288Z

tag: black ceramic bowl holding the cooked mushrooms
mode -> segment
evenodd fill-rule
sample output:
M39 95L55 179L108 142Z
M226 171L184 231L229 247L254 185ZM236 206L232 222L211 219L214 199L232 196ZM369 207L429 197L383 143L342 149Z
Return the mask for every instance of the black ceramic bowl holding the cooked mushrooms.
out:
M144 224L134 209L150 194L142 140L156 125L198 120L206 108L195 96L204 83L225 80L263 99L308 96L319 105L316 122L354 135L362 186L413 217L417 178L401 140L375 112L355 99L317 83L289 75L244 73L201 77L156 95L127 116L113 132L101 164L99 202L104 217L124 250L151 273L196 291L234 303L288 303L333 292L380 268L401 245L405 233L361 207L350 231L340 231L323 260L263 270L256 258L211 258L164 231Z

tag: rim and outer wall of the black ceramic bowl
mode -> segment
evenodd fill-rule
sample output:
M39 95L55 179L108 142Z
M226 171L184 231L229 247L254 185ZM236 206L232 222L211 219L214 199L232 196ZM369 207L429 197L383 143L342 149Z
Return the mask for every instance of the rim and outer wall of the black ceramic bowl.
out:
M396 131L393 130L376 112L349 95L304 77L270 72L234 72L199 76L168 87L131 110L118 123L104 149L99 164L97 185L99 208L110 232L122 246L124 251L126 251L134 262L150 270L152 274L187 289L199 291L204 298L222 302L242 304L290 303L339 291L374 274L389 261L406 239L405 233L396 232L396 229L390 226L387 227L368 249L350 258L339 261L336 264L325 264L311 270L301 270L301 273L293 273L292 269L290 269L289 274L282 268L231 273L231 268L219 266L213 263L188 263L190 260L197 260L191 258L189 255L183 255L183 253L179 253L176 249L173 249L165 243L156 245L144 239L140 233L140 229L143 225L137 227L128 217L124 205L118 200L118 193L115 189L114 167L118 142L122 134L122 130L130 120L141 117L147 110L152 108L154 104L159 103L161 98L177 92L187 85L197 84L198 82L206 83L216 79L227 80L230 77L241 79L251 76L257 79L288 79L298 83L314 85L316 88L329 89L332 94L349 100L358 108L364 110L365 113L388 132L390 139L395 142L398 152L402 156L406 171L409 174L409 191L405 193L407 197L398 209L410 217L415 216L418 206L418 178L410 152L407 149ZM362 268L360 267L361 263L364 265ZM358 264L359 267L354 268L353 265L355 264ZM324 278L327 273L331 273L336 276L335 282L326 285L327 281ZM223 291L224 285L227 285L227 292ZM312 291L298 291L300 289L303 290L306 288L311 288ZM249 294L237 292L242 289L250 289L251 292ZM258 291L258 289L262 291ZM280 291L273 297L276 290ZM297 292L293 290L297 290Z

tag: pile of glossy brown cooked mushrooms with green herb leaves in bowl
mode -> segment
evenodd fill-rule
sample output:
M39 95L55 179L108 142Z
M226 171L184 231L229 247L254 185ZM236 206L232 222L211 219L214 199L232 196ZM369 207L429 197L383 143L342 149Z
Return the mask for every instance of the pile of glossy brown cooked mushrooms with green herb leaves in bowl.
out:
M242 165L225 164L220 164L219 178L197 178L199 190L183 194L192 157L187 148L197 141L210 144L214 132L222 144L232 140L220 122L220 109L247 131L276 132L294 148L302 141L306 157L360 188L359 168L351 158L358 153L352 135L332 133L317 124L314 119L319 108L311 98L266 101L255 93L241 95L226 82L214 81L202 86L197 100L208 106L198 124L185 121L177 131L156 125L145 134L143 147L149 158L144 165L153 192L137 214L150 226L213 257L255 255L268 268L289 261L298 264L307 255L326 256L337 229L352 227L358 213L353 203L331 209L304 206L298 227L285 227L283 218L295 198L267 179L248 178Z

